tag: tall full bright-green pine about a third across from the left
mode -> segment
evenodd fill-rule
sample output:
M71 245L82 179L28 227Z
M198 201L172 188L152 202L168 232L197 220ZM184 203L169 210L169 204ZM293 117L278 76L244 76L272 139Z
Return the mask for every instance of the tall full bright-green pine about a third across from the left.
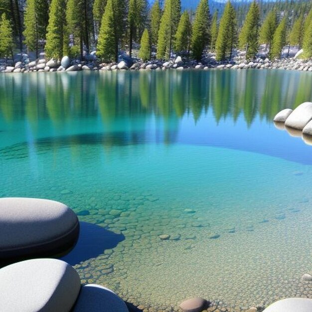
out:
M97 55L106 62L116 60L114 0L107 0L99 31Z

